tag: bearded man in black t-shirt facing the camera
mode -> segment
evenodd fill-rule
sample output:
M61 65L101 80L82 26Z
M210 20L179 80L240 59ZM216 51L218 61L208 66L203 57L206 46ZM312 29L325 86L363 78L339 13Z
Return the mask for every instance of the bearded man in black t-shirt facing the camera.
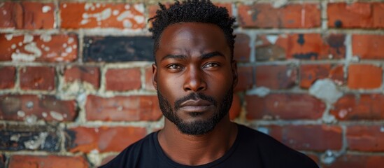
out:
M232 123L234 18L210 1L176 1L152 20L153 85L164 129L104 167L317 167L266 134Z

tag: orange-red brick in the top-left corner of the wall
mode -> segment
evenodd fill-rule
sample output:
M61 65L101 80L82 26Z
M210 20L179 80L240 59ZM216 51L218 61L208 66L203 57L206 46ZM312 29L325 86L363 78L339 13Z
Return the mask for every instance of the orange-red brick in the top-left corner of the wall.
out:
M5 2L0 6L0 27L16 29L53 29L53 3Z

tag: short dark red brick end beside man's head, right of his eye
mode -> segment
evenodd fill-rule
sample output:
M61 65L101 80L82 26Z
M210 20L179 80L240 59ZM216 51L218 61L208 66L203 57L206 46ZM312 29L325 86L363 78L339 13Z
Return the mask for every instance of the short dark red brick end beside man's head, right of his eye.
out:
M237 62L249 62L250 37L247 34L236 34L234 44L234 59Z

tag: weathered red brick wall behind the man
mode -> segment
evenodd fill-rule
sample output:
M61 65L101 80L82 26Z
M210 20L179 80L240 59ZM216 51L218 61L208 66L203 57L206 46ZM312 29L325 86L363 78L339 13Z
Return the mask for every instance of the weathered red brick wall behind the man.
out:
M285 2L217 3L237 18L232 120L320 167L383 165L384 2ZM0 3L0 167L96 167L162 127L156 8Z

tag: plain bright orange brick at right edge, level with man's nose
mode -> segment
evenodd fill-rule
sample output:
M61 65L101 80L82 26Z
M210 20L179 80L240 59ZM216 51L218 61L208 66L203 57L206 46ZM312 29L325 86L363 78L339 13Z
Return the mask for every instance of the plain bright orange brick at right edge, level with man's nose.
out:
M383 69L371 64L351 64L348 67L350 89L376 89L381 87Z

